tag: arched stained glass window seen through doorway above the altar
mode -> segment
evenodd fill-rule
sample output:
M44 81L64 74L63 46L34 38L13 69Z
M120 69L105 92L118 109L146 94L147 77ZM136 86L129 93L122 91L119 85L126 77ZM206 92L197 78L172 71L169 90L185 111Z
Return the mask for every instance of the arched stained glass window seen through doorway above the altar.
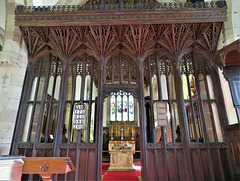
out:
M118 92L111 94L111 121L134 121L134 97L131 93Z

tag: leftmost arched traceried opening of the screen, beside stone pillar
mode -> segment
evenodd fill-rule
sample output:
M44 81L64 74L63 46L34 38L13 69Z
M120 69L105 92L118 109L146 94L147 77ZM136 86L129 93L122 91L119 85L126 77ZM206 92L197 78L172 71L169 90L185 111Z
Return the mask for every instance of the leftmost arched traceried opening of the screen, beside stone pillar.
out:
M61 74L62 63L57 57L47 56L35 63L23 142L53 142Z

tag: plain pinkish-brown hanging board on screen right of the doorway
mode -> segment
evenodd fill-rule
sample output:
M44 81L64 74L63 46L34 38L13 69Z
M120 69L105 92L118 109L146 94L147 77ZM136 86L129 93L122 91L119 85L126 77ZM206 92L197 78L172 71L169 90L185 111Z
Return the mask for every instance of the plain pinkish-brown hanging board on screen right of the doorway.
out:
M168 103L166 102L156 102L157 106L157 121L155 122L155 127L157 126L168 126Z

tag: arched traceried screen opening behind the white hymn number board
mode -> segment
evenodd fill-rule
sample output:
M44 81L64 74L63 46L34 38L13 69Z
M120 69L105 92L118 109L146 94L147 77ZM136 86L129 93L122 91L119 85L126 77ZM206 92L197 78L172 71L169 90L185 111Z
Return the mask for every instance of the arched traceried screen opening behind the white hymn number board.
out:
M86 109L86 122L81 133L81 142L94 142L98 70L98 62L92 56L86 54L77 57L71 63L69 67L67 99L65 101L62 142L77 142L77 130L73 130L72 120L73 107L80 101L84 103Z

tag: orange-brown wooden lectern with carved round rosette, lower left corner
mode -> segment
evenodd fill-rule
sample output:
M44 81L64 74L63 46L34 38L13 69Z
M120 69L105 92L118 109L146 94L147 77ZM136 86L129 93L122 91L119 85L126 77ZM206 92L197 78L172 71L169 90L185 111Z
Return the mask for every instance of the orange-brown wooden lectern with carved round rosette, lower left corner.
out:
M51 181L55 174L65 174L75 168L69 157L25 157L23 174L39 174L43 181Z

